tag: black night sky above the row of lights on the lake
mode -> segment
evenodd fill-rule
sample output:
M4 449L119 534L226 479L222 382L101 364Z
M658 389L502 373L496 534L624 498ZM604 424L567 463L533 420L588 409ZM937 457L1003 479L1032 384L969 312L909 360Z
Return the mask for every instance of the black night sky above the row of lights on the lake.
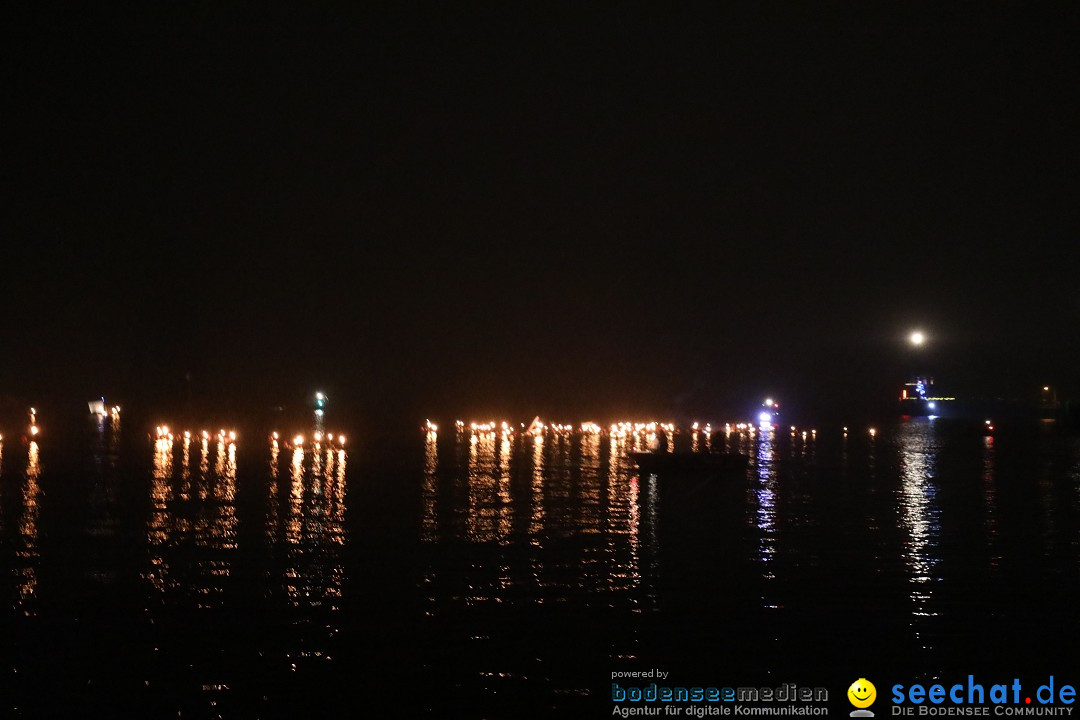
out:
M0 396L1077 388L1074 14L500 4L4 10Z

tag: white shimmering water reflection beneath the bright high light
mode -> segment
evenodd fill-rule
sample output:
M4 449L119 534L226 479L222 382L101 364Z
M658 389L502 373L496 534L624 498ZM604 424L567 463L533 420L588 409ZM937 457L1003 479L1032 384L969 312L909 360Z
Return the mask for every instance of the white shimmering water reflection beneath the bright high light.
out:
M896 503L901 527L906 533L903 548L908 569L913 627L923 643L929 636L921 629L921 620L937 613L932 603L934 590L941 582L937 566L941 562L941 508L937 502L936 453L937 446L930 421L904 422L896 431L900 446L901 485ZM923 649L929 646L923 644Z

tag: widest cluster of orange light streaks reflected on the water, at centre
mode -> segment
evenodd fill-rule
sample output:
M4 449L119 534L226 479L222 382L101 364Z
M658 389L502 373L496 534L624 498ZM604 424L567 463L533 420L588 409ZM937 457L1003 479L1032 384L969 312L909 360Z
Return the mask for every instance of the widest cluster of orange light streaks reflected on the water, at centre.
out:
M441 454L437 438L424 436L420 536L429 544L465 542L492 554L475 556L486 560L468 567L464 576L460 567L430 568L424 574L430 602L438 597L470 604L549 602L580 593L651 588L644 574L657 557L657 480L639 478L629 457L633 448L656 441L650 433L605 440L598 433L523 436L484 427L459 435L456 447L467 448L463 457ZM568 553L569 547L578 552ZM461 583L460 594L438 593L447 583ZM642 598L606 601L639 604Z

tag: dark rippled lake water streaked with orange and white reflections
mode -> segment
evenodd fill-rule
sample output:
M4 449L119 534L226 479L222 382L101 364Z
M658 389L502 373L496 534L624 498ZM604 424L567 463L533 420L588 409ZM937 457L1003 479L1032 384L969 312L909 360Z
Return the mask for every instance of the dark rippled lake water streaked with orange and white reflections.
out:
M1076 676L1076 436L720 432L752 457L723 483L639 477L645 443L6 439L2 715L609 717L619 669L839 699Z

